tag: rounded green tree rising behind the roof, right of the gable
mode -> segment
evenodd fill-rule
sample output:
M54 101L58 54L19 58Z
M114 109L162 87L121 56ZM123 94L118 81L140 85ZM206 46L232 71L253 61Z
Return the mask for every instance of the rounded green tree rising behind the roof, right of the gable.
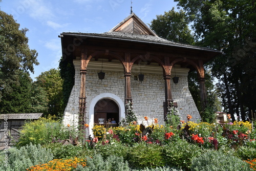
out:
M152 20L150 27L161 37L184 44L194 44L194 36L189 30L188 24L185 12L182 10L176 12L173 8L164 12L164 15L157 15L157 19Z

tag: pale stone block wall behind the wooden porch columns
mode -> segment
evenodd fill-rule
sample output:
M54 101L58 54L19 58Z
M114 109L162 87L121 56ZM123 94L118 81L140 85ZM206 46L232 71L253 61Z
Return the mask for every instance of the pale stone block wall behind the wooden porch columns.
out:
M75 85L72 89L69 102L63 116L62 123L64 125L77 125L78 122L78 101L80 92L79 61L75 61L74 65L76 70ZM109 67L105 67L108 65ZM102 81L99 80L97 74L100 72L100 70L95 70L96 68L100 68L98 66L100 66L100 62L92 61L89 63L86 75L86 122L90 123L90 127L87 130L88 135L92 134L91 129L93 127L92 116L94 103L95 100L101 98L99 97L100 95L108 93L108 95L104 97L116 100L116 102L120 105L120 108L122 108L122 113L120 116L124 116L125 79L122 65L120 63L116 63L113 66L110 62L108 64L104 64L103 72L105 72L105 78ZM144 121L144 116L147 116L150 123L153 122L154 118L158 118L159 124L164 124L163 102L165 101L165 88L162 69L159 66L144 66L144 80L143 82L140 82L139 80L135 80L136 76L139 74L138 67L139 66L133 67L131 76L131 91L134 103L133 107L134 112L138 117L138 123ZM154 72L154 74L152 72ZM176 69L176 76L179 77L179 82L177 84L171 82L172 95L173 100L178 103L178 109L183 120L186 120L186 116L190 114L193 117L192 120L196 121L200 119L200 115L188 90L187 73L188 69Z

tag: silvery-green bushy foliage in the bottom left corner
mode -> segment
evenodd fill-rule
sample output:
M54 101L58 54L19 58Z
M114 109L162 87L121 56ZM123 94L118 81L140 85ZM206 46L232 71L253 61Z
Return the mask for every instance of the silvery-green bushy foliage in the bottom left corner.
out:
M8 154L8 167L5 166L5 156ZM40 145L26 145L18 148L8 149L8 153L3 151L0 156L0 170L20 171L26 170L33 165L47 163L53 159L51 151L42 148Z

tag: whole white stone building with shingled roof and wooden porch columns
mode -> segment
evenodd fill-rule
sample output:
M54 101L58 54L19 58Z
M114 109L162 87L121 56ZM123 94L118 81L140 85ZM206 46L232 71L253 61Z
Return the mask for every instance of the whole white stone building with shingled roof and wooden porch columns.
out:
M88 123L87 135L99 118L125 117L125 103L133 102L138 123L147 116L164 124L167 106L177 104L182 118L200 115L188 90L187 75L198 72L205 101L203 63L220 51L183 45L158 37L134 13L109 32L61 33L63 60L75 68L75 84L63 124ZM104 72L104 79L98 73ZM139 74L144 75L139 81ZM172 78L179 77L178 83ZM81 81L82 80L82 81ZM79 120L79 121L78 121Z

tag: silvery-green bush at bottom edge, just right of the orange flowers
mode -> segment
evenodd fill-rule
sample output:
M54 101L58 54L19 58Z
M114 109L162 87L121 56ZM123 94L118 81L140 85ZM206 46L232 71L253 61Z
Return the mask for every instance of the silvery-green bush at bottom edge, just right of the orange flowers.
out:
M104 171L129 171L128 163L123 161L122 157L108 156L105 160L98 154L94 157L87 157L87 166L82 167L78 165L77 171L92 171L92 170L104 170Z

